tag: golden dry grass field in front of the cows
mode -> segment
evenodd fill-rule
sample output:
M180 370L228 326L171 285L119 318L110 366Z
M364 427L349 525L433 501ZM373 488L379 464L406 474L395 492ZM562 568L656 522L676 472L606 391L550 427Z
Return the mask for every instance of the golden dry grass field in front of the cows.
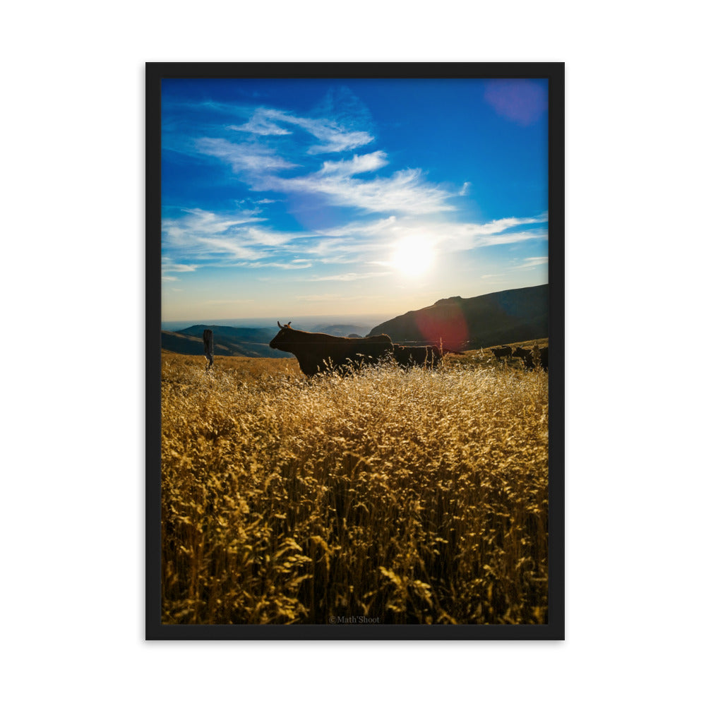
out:
M548 376L492 358L164 352L162 622L545 623Z

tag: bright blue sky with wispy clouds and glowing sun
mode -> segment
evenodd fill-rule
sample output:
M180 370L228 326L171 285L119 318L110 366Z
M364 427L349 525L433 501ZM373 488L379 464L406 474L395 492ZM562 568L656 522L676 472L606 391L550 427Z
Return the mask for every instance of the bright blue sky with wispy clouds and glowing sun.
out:
M544 284L547 156L544 80L163 80L162 320Z

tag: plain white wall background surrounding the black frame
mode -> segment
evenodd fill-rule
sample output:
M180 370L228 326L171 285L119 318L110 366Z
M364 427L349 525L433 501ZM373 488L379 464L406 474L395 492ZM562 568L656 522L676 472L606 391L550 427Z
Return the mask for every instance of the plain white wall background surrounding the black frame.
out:
M663 704L702 694L699 7L4 8L9 703ZM144 62L294 60L566 61L565 642L143 641Z

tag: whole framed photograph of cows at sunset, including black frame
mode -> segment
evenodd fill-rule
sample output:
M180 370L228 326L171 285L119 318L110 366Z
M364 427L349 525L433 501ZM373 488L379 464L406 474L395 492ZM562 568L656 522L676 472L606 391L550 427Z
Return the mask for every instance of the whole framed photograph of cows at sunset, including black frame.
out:
M146 638L563 639L563 102L146 65Z

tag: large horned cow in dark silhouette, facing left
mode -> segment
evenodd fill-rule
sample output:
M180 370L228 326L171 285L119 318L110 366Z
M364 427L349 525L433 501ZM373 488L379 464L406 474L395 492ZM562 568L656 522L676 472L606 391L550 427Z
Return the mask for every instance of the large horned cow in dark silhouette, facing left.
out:
M380 361L392 356L393 342L383 333L368 338L344 338L327 333L298 331L289 324L270 341L270 348L294 353L304 375L311 377L327 370L347 371L351 366Z

